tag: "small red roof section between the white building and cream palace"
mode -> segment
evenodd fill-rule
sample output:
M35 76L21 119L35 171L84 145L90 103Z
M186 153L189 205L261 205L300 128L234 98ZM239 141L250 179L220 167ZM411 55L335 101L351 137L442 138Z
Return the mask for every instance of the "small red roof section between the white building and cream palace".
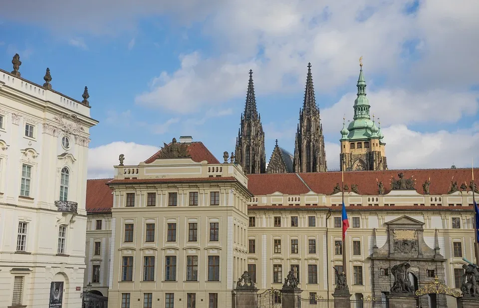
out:
M112 179L86 181L87 213L108 212L113 206L112 190L106 184Z

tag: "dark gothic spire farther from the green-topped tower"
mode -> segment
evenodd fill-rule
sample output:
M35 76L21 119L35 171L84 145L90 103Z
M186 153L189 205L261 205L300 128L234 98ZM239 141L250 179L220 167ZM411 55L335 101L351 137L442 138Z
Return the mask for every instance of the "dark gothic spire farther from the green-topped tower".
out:
M236 162L240 163L246 174L266 172L266 154L264 151L264 132L261 116L256 110L254 97L253 71L249 70L248 90L244 113L241 114L240 130L236 142Z

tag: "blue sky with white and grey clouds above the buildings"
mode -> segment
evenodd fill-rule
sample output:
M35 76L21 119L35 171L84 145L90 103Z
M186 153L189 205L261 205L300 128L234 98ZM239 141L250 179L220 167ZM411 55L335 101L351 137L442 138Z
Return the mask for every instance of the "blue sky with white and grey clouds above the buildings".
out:
M180 4L181 3L181 4ZM88 177L191 135L232 152L253 70L266 161L293 153L312 65L329 169L339 168L360 56L389 169L479 165L477 0L17 0L0 10L0 67L81 100Z

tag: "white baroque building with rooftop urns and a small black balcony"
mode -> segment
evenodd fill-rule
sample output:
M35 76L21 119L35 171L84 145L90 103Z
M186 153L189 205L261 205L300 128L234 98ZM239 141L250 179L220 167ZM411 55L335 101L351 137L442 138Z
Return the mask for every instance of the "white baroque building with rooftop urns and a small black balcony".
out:
M85 269L88 90L0 69L0 307L77 308ZM81 92L80 92L81 93Z

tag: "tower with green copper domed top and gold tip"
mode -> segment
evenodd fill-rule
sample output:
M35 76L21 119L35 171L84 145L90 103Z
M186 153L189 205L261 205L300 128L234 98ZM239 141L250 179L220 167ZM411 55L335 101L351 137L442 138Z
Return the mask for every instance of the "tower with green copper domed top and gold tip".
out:
M340 170L387 170L386 143L383 141L381 122L379 126L376 126L374 115L371 121L362 63L360 66L353 120L348 128L343 121L343 129L341 129Z

